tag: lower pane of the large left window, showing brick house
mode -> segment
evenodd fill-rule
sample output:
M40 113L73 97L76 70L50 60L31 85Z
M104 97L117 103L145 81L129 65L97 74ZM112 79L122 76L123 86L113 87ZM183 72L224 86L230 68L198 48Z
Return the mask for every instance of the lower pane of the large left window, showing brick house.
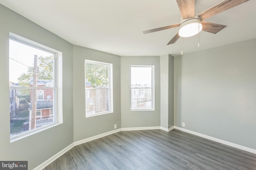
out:
M33 107L35 113L35 127L40 128L55 123L54 118L54 89L44 89L47 94L45 100L37 100L33 105L32 92L34 89L10 89L15 95L10 98L10 135L16 136L32 130ZM31 121L29 121L31 120Z

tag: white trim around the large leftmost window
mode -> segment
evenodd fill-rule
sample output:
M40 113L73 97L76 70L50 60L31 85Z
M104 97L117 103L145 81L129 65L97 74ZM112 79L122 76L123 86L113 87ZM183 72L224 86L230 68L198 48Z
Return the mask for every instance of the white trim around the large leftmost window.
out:
M29 45L31 47L43 50L43 51L47 51L49 53L52 53L55 55L55 60L54 62L56 63L56 67L55 67L55 74L56 74L56 78L54 79L54 84L56 86L56 90L55 90L55 95L53 96L56 98L54 105L55 107L55 117L54 117L54 121L56 121L55 123L52 123L50 125L46 125L44 127L41 128L36 128L34 130L30 130L28 132L24 132L22 134L18 134L16 136L12 136L10 137L10 142L14 142L16 140L20 140L22 138L25 138L27 136L30 136L32 134L36 134L38 132L41 132L43 130L46 130L48 128L52 128L55 127L57 125L60 125L63 123L63 109L62 109L62 52L57 51L55 49L52 49L50 47L47 47L45 45L42 45L40 43L28 40L24 37L18 36L16 34L13 34L10 32L9 34L9 40L14 40L16 42L20 42L23 43L25 45ZM28 87L30 88L30 87ZM13 89L16 89L15 87L13 87ZM31 88L30 88L31 89ZM45 87L45 89L47 89L47 87Z

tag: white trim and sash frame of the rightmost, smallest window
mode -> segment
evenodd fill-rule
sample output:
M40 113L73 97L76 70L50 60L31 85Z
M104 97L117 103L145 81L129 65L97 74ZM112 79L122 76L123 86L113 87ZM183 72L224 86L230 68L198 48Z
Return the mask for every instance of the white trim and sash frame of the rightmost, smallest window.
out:
M131 87L131 67L151 67L151 87L143 87L143 89L151 89L151 109L132 109L132 89L142 89L142 88L132 88ZM130 65L130 111L154 111L155 110L155 67L154 65ZM145 92L145 91L144 91Z

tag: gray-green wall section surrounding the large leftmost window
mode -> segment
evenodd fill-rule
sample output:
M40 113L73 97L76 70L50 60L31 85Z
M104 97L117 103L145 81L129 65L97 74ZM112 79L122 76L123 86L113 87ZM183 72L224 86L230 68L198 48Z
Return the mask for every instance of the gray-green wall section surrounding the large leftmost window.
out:
M0 160L28 160L29 169L73 142L73 45L0 4ZM63 55L63 123L10 143L9 32ZM18 70L17 70L18 71Z

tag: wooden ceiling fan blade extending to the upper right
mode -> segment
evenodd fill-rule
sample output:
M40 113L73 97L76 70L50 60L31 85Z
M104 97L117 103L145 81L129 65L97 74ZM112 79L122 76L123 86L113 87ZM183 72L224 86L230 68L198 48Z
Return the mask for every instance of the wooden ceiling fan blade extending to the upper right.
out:
M204 12L201 12L200 14L198 14L198 17L201 20L205 20L207 18L210 18L211 16L219 14L220 12L226 11L247 1L249 0L224 0L205 10Z

